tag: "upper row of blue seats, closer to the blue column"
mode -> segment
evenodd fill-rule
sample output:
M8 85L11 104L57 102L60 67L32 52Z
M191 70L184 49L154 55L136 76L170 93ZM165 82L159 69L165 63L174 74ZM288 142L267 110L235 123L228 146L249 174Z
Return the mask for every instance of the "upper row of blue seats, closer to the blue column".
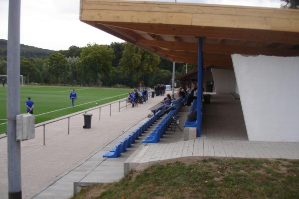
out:
M147 136L146 139L142 141L142 143L157 143L160 141L160 138L163 137L163 134L167 131L167 128L170 126L172 117L178 113L178 111L181 109L184 101L182 100L182 103L176 107L174 110L170 110L166 117L164 117L161 122L153 129L153 131ZM163 110L162 110L163 111Z

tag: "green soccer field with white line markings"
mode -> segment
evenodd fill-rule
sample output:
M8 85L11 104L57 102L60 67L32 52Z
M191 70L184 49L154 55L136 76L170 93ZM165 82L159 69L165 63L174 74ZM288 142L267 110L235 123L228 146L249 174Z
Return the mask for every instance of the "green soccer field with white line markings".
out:
M6 87L0 88L0 134L6 132ZM75 89L77 100L72 107L70 92ZM28 97L34 101L35 123L40 123L73 112L91 108L128 96L132 89L23 86L20 87L20 113L26 113ZM98 103L97 105L95 103Z

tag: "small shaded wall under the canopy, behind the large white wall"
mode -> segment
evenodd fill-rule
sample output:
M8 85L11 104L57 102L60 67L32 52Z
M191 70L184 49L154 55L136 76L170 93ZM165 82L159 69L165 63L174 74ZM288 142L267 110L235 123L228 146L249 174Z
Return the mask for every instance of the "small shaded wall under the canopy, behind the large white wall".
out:
M233 70L212 68L215 92L229 94L236 91L236 78Z

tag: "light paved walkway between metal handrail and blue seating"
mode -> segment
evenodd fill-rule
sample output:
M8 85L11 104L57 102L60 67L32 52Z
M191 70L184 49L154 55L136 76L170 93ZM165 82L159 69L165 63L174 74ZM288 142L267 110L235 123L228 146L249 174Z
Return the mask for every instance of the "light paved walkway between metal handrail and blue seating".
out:
M142 121L151 113L149 108L162 99L161 96L150 98L147 103L134 108L123 108L120 112L118 112L119 104L115 103L112 105L112 116L109 116L110 107L103 107L101 108L101 121L99 121L98 109L90 111L89 113L93 114L92 128L90 129L82 128L84 119L81 114L71 117L69 135L67 119L48 124L45 128L45 146L43 146L43 128L36 128L35 138L21 143L23 198L31 199L67 174L68 171L72 171L76 166L84 163L99 149L130 129L131 126ZM63 182L63 185L68 182ZM0 139L1 199L8 198L7 184L7 139L2 138ZM68 197L72 196L72 193L73 189ZM54 198L65 198L59 194Z

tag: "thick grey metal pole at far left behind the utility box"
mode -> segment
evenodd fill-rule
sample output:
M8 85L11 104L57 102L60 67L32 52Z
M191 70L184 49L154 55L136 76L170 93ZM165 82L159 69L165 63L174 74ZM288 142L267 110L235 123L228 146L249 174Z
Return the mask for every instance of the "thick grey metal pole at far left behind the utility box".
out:
M7 43L7 172L8 199L21 199L21 144L16 140L20 113L20 0L9 0Z

